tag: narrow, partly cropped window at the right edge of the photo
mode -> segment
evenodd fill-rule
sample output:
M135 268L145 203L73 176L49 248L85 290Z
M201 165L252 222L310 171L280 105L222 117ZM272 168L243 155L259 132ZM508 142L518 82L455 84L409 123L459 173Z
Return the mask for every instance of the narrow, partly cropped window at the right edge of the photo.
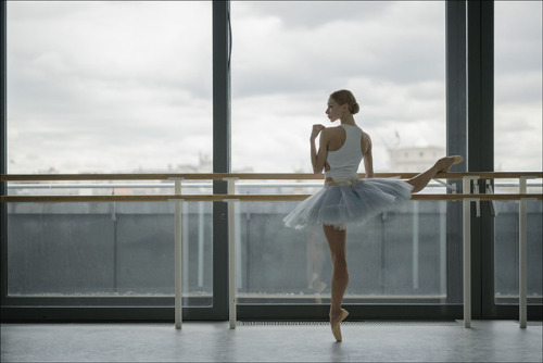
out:
M494 168L541 171L542 3L494 2ZM542 192L529 180L529 192ZM496 182L496 192L518 192L518 179ZM496 202L494 272L496 303L518 303L518 202ZM527 203L528 302L541 304L542 203Z

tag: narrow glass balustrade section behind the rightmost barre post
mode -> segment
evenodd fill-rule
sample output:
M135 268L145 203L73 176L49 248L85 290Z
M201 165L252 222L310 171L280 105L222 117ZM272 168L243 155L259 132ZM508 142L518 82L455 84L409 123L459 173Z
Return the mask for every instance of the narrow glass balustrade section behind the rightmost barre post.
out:
M496 183L496 192L518 192L518 180ZM528 192L542 192L542 179L529 180ZM496 202L494 220L495 303L518 304L519 298L519 202ZM528 303L543 302L543 203L527 201L527 295Z

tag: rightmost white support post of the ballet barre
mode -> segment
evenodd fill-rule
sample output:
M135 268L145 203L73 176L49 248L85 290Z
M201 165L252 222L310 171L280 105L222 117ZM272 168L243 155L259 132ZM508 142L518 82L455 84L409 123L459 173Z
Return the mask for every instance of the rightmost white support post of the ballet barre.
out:
M530 176L519 178L519 193L527 193L527 179ZM518 323L520 328L527 327L528 320L528 268L527 268L527 233L526 233L526 202L530 198L520 198L518 201Z

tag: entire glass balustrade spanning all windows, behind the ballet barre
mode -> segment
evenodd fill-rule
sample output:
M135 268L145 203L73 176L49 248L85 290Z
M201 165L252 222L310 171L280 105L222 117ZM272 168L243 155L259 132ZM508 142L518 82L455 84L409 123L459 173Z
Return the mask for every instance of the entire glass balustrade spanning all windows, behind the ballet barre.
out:
M308 195L321 180L239 180L237 195ZM443 183L424 193L443 195ZM518 192L518 183L494 186ZM541 179L530 180L541 193ZM212 182L185 180L182 193L211 195ZM174 183L10 182L9 196L174 196ZM282 218L299 201L241 201L236 218L238 303L326 303L330 259L320 228L286 228ZM458 201L414 200L381 213L348 234L351 281L348 303L457 303L450 284L460 271L447 267L447 245L462 246L447 228L447 205ZM13 297L172 297L174 203L9 202L8 293ZM496 201L495 293L497 303L518 301L518 201ZM528 297L541 303L541 201L528 202ZM209 305L213 295L211 201L182 203L185 305ZM456 227L458 230L462 226ZM449 231L447 231L449 230ZM452 231L451 231L452 230ZM516 273L517 272L517 273ZM453 276L454 275L454 276ZM516 300L515 300L516 299Z

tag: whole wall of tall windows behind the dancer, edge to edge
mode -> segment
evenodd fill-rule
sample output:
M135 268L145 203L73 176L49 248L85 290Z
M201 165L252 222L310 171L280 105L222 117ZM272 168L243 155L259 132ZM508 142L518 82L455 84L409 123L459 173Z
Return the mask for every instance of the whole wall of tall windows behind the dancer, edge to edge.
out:
M465 54L456 47L466 49L466 39L485 29L483 23L472 24L477 22L467 22L466 27L467 18L478 18L467 15L479 11L488 15L494 9L492 2L471 4L4 2L8 120L2 122L8 136L1 142L8 153L2 154L7 162L1 166L8 164L3 171L10 174L211 172L212 146L216 158L220 153L228 157L217 160L220 167L228 168L230 150L226 148L231 143L233 172L311 172L311 125L327 124L327 96L348 88L362 105L358 124L374 139L376 172L420 172L444 154L445 55L452 70L449 75L466 79ZM539 170L541 35L533 40L528 34L541 29L541 4L496 2L495 13L495 170ZM445 15L449 40L453 40L447 42L447 54ZM212 28L225 29L226 38L227 18L231 18L233 30L231 142L225 142L228 133L212 140L212 128L216 133L227 120L223 114L212 127L212 108L228 111L230 101L228 82L223 82L230 76L223 48L227 41L214 42L212 53ZM464 32L471 26L475 32L466 37ZM477 59L480 54L468 55ZM487 55L481 55L483 61ZM515 64L509 63L514 57ZM214 75L215 85L222 84L222 96L213 105L212 59L215 68L222 70L218 77ZM449 147L460 152L466 147L462 126L465 98L459 96L466 91L463 83L447 86L456 95L449 99L449 126L455 129L447 135ZM515 87L525 89L526 95L518 96ZM523 142L515 145L512 136ZM480 148L467 147L476 152ZM496 184L495 190L516 191L515 183ZM215 192L222 192L217 191L219 184L214 184ZM10 193L173 189L172 183L67 187L2 183L4 186ZM237 183L240 192L249 193L310 193L320 187L321 183L298 180ZM428 189L444 191L437 184ZM530 180L530 190L534 189L541 192L540 179ZM184 182L184 192L188 190L210 193L211 184ZM293 204L239 203L240 316L285 317L288 314L281 311L303 311L305 317L314 318L320 316L319 304L327 303L330 262L326 242L320 230L298 233L282 226L281 220ZM227 318L225 204L182 205L184 305L190 308L186 312L189 318ZM495 255L483 253L482 277L472 280L473 288L483 291L481 298L473 296L473 306L482 304L483 317L488 300L516 303L516 208L515 203L497 203ZM45 316L40 315L43 309L47 314L55 311L49 316L65 317L71 313L50 308L100 305L110 316L122 318L127 312L123 316L132 318L132 306L141 305L152 308L144 309L151 311L146 317L162 320L166 315L157 311L168 313L172 309L171 203L5 203L1 211L2 251L7 252L2 263L8 266L2 302L9 302L2 311L8 315L26 314L21 308L31 305L36 308L34 316ZM536 278L541 276L541 203L530 201L528 213L529 302L530 308L541 308L533 306L542 296L541 279ZM401 317L459 316L459 202L411 202L377 216L363 228L350 228L353 278L345 302L361 304L353 306L353 312L358 309L368 316L387 316L390 310L382 304L399 303L402 306L395 311ZM473 241L473 250L487 241L484 236ZM500 266L495 272L484 263L493 258L494 266ZM487 284L489 276L494 277L495 296L487 293L492 286ZM263 313L261 304L267 303L277 306L266 306ZM301 305L293 306L296 304ZM112 306L115 309L108 309ZM192 309L195 306L206 309ZM513 311L509 308L515 306L500 306Z

